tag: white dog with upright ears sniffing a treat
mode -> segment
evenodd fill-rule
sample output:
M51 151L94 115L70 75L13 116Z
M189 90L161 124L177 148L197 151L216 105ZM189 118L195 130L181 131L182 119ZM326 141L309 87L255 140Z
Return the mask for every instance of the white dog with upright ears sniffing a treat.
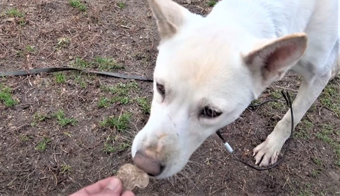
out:
M172 0L149 0L161 42L151 115L136 135L136 166L154 178L191 154L288 70L303 77L295 125L339 73L338 0L222 0L202 17ZM290 111L254 149L273 164L290 135Z

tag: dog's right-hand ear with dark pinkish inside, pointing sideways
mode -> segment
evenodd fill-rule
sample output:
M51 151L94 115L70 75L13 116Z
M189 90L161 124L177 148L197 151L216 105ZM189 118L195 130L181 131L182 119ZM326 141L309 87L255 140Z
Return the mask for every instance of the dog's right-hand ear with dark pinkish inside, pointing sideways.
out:
M306 47L306 34L292 34L250 52L244 61L255 77L261 77L262 84L269 85L281 79L300 60Z

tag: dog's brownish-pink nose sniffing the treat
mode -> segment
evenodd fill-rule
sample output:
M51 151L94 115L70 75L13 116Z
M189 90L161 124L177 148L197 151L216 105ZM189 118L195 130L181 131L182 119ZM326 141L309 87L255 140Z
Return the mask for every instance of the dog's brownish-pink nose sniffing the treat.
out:
M154 157L146 155L142 151L137 151L134 157L135 165L150 176L158 176L162 173L164 166Z

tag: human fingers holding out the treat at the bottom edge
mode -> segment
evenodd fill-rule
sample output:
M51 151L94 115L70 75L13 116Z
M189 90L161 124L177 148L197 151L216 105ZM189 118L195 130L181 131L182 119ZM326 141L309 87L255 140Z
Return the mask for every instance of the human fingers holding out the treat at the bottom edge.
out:
M117 177L102 179L84 187L70 196L135 196L131 191L123 192L123 184Z

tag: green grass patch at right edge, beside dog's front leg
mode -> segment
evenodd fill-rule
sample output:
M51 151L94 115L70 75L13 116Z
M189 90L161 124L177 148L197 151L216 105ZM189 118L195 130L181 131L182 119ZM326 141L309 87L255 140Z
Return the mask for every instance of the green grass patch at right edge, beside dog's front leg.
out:
M320 102L340 116L340 91L336 84L329 83L320 96Z

